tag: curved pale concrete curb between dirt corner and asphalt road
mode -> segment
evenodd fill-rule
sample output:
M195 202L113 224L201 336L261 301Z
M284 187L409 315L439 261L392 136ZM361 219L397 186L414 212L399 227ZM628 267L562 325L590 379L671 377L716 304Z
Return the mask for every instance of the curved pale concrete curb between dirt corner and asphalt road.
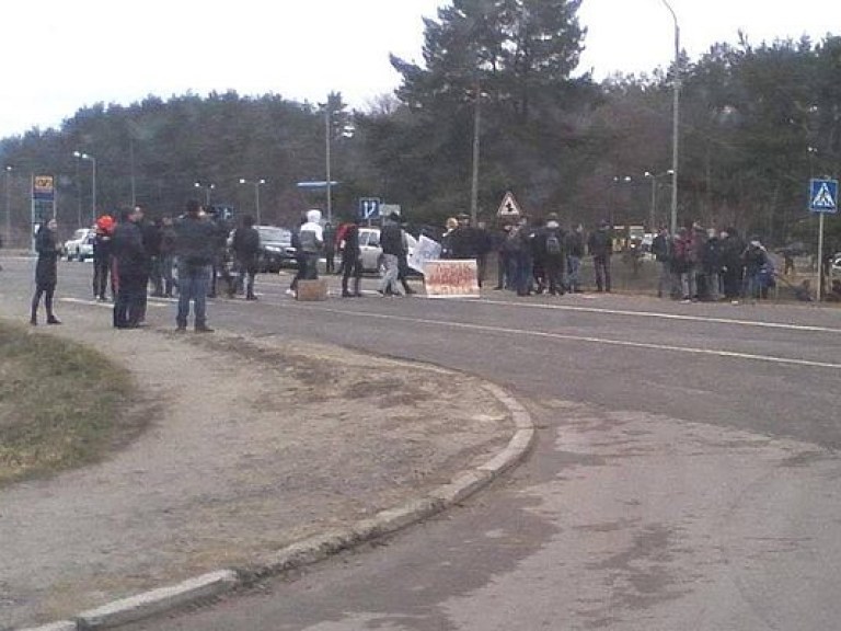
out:
M88 631L115 628L203 598L219 596L258 578L316 563L342 550L396 532L463 502L521 462L537 437L531 415L514 397L492 383L485 383L484 388L511 413L515 424L514 436L505 449L491 460L461 471L448 484L438 486L402 506L381 510L373 517L357 521L349 528L329 530L287 546L283 550L256 559L247 567L219 570L203 574L177 585L152 589L83 611L73 620L51 622L20 631Z

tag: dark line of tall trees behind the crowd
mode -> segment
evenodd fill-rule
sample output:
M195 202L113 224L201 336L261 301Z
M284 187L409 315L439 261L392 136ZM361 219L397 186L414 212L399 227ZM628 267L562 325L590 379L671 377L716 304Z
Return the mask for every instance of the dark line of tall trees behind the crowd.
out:
M441 223L470 209L476 138L483 219L511 191L528 214L569 223L664 222L670 180L645 173L671 167L676 68L601 82L579 73L579 5L454 0L425 21L423 64L392 57L400 87L365 111L349 111L339 93L324 104L233 91L150 95L5 138L15 225L28 217L28 173L56 175L62 223L90 217L91 164L74 151L96 158L100 210L138 203L172 214L209 194L253 213L254 186L239 181L264 179L264 220L292 225L325 205L323 191L297 183L325 179L327 139L338 217L354 215L359 197L380 197L415 222ZM841 37L754 45L742 34L684 56L679 70L680 222L811 244L807 182L838 176L841 163ZM828 239L841 249L837 218Z

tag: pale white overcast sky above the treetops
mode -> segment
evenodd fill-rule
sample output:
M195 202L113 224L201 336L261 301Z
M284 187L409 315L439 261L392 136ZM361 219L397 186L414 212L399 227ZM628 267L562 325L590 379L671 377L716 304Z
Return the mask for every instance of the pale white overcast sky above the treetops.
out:
M753 43L838 23L839 0L671 0L694 59L715 42ZM362 107L392 91L389 53L422 60L422 16L442 0L3 0L0 137L58 126L82 106L229 89ZM661 0L584 0L581 69L649 71L673 55ZM839 28L834 28L836 33Z

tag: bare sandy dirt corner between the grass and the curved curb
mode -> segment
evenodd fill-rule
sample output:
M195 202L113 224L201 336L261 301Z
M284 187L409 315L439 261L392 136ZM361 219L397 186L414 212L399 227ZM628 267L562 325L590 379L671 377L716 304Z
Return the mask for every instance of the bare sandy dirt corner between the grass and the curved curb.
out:
M49 333L128 368L133 412L153 416L103 462L0 489L0 629L247 564L446 483L512 434L477 380L434 367L62 319Z

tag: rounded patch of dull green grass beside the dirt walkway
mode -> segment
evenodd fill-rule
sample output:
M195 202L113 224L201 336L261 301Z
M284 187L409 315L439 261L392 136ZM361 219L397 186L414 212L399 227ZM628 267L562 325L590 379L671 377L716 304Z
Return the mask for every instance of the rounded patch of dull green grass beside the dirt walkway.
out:
M101 459L136 434L133 399L102 354L0 321L0 485Z

